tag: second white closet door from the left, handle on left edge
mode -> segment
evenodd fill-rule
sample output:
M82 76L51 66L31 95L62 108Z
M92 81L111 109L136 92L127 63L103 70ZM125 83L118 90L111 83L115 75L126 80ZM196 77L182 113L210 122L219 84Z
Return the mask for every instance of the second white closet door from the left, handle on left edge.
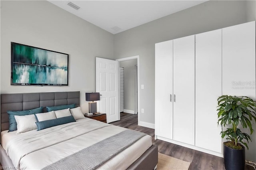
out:
M195 36L173 40L173 139L195 141ZM176 100L176 101L175 101Z

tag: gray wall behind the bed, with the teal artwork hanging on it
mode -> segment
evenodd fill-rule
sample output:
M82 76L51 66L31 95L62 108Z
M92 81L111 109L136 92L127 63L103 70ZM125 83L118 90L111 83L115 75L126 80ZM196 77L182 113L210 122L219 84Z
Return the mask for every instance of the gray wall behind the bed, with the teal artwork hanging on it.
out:
M48 1L1 2L1 93L95 91L95 57L113 59L113 34L66 12ZM17 42L70 54L69 85L38 87L10 85L11 46ZM83 104L84 103L84 104Z

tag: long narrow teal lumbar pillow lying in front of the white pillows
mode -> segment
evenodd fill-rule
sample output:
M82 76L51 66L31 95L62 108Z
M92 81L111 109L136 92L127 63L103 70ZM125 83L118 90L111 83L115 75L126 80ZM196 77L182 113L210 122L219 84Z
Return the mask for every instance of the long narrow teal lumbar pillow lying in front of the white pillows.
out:
M42 130L45 128L54 127L54 126L58 126L58 125L62 125L70 122L76 122L73 116L67 116L67 117L61 117L57 119L42 121L42 122L36 122L36 126L37 126L37 130Z

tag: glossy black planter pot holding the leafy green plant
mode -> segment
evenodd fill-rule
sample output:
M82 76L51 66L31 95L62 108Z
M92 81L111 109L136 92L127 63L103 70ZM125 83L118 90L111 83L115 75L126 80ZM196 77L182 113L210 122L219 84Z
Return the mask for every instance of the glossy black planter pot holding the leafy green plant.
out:
M225 142L224 142L225 143ZM226 170L244 170L245 149L232 149L223 143L224 164Z

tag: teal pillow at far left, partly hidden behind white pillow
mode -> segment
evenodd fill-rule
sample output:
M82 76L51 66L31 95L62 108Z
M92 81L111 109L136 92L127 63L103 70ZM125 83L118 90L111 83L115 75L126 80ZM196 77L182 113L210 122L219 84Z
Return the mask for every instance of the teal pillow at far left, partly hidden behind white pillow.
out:
M17 116L32 115L36 113L42 113L42 111L43 111L43 107L38 107L36 109L30 109L26 111L7 111L9 115L9 123L10 123L8 132L17 130L17 123L14 118L14 115L17 115Z

